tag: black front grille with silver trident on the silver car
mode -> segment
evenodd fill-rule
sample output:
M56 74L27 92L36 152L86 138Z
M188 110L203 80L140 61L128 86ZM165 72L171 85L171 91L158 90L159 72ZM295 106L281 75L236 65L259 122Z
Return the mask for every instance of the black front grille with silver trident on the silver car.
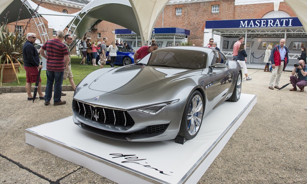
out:
M116 126L128 127L134 125L132 117L125 110L94 107L80 101L76 101L75 104L77 112L87 119Z

